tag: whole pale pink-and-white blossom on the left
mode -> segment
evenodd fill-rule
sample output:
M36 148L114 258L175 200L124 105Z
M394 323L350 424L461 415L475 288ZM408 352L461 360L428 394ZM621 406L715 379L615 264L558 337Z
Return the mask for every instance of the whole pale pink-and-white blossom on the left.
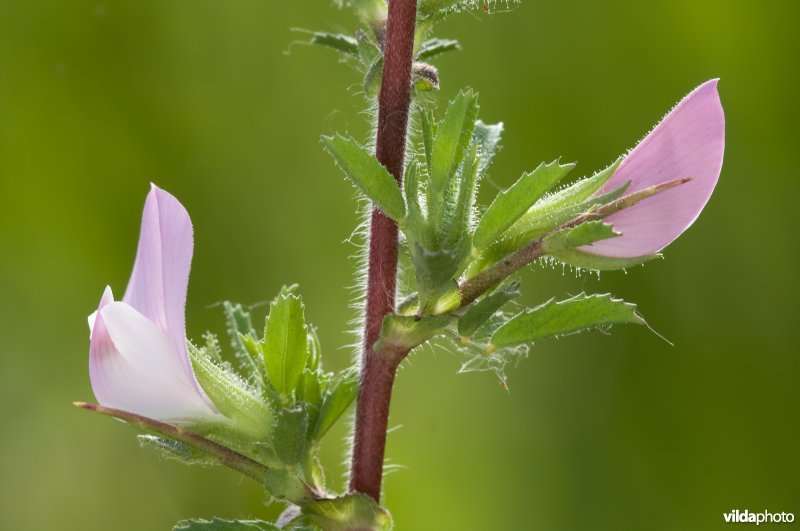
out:
M152 186L128 289L106 288L89 316L89 376L106 407L164 421L219 418L197 383L186 348L184 307L194 249L183 205Z

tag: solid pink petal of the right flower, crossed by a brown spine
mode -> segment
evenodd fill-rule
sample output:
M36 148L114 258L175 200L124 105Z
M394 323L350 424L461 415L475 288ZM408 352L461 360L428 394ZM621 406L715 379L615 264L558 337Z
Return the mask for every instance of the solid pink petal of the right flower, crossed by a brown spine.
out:
M725 115L717 79L697 87L622 161L598 194L630 181L626 193L683 177L692 180L606 218L622 236L581 247L634 258L656 253L685 231L708 202L722 168Z

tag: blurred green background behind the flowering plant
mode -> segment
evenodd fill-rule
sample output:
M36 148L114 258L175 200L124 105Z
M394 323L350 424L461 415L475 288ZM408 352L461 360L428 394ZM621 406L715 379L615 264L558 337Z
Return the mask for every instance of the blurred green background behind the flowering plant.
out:
M525 297L611 291L670 347L618 328L456 375L401 371L385 503L400 530L717 529L734 508L800 517L796 268L798 4L527 1L440 27L442 97L471 85L504 121L500 186L542 160L604 166L694 86L720 77L722 177L698 223L627 274L538 269ZM91 400L88 330L124 291L148 182L190 211L189 333L213 303L299 282L325 361L344 348L357 222L319 135L366 139L360 80L290 28L347 30L326 0L0 0L0 529L169 529L269 518L226 470L159 461ZM286 52L291 53L287 54ZM256 310L263 315L263 308ZM346 427L325 460L341 484ZM795 524L798 525L798 524Z

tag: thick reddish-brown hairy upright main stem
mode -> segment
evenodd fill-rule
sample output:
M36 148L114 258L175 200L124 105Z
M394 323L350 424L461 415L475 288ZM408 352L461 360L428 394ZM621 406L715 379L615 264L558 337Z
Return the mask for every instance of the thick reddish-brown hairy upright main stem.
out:
M398 184L403 180L416 18L416 0L389 1L375 157ZM396 287L397 225L376 208L370 225L361 382L350 469L350 491L376 501L381 494L392 385L397 366L408 352L377 352L372 346L384 317L395 311Z

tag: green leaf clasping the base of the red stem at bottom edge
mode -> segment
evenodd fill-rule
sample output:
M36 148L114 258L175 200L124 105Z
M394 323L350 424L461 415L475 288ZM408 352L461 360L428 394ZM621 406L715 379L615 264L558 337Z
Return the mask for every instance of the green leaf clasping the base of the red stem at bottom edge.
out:
M365 494L348 494L328 500L309 500L302 506L300 521L325 531L389 531L392 517Z

